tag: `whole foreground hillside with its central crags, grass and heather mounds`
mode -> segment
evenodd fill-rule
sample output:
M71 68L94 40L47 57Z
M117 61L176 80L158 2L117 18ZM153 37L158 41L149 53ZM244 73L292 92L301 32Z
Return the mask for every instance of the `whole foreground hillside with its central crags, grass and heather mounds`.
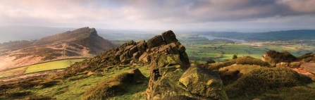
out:
M286 55L285 52L283 52ZM312 54L304 58L314 58ZM315 83L244 56L190 64L173 31L126 42L66 70L0 80L0 99L311 99Z

